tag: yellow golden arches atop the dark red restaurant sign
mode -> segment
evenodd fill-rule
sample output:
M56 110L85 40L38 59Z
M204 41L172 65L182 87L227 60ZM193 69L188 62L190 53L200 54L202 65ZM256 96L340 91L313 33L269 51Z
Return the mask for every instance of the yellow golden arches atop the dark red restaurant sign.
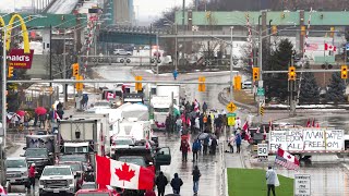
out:
M26 29L26 25L24 23L24 20L20 14L12 15L8 26L5 25L5 22L3 21L3 19L0 16L0 25L2 27L7 28L7 50L10 50L13 22L15 22L16 19L20 21L21 27L22 27L24 53L31 53L28 32Z

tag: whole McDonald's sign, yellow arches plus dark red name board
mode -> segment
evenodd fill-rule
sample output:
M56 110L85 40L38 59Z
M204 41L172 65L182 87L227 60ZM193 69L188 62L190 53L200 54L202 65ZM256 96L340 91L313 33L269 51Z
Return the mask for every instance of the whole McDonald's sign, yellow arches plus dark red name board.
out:
M12 28L13 23L15 20L19 20L22 27L22 36L23 36L23 49L11 49L11 35L12 35ZM7 28L7 42L5 42L5 50L8 51L7 60L9 62L10 66L13 66L15 69L31 69L32 62L33 62L33 54L34 50L29 49L29 37L28 32L26 29L26 25L24 23L23 17L20 14L12 15L10 22L8 25L5 25L2 17L0 17L0 25L1 27Z

